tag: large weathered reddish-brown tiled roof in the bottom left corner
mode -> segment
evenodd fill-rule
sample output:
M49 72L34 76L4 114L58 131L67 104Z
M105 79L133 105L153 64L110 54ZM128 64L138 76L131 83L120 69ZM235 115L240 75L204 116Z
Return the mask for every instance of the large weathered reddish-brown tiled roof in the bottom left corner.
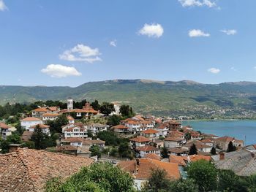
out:
M0 155L0 191L43 191L53 177L69 177L91 158L20 148Z

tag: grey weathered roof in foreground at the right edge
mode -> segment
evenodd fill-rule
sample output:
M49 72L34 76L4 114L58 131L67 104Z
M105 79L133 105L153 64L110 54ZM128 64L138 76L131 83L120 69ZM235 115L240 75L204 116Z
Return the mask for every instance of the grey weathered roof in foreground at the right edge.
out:
M249 150L238 150L225 153L223 160L218 160L219 155L211 156L218 169L232 170L239 176L256 174L256 153Z

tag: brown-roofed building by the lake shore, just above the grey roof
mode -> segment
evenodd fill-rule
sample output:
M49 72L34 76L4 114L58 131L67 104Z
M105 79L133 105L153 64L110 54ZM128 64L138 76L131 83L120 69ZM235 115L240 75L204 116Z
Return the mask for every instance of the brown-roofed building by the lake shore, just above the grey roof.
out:
M221 150L227 150L228 144L232 142L233 146L236 147L244 147L244 141L238 140L234 137L219 137L217 139L214 139L214 144Z

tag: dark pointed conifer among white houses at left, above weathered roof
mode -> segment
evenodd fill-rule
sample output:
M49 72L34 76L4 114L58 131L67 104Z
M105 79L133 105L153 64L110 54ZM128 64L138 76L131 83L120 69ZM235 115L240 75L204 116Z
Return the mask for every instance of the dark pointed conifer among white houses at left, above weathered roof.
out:
M48 147L48 135L42 132L42 128L40 128L39 125L34 128L31 141L34 142L34 147L37 150L42 150Z

